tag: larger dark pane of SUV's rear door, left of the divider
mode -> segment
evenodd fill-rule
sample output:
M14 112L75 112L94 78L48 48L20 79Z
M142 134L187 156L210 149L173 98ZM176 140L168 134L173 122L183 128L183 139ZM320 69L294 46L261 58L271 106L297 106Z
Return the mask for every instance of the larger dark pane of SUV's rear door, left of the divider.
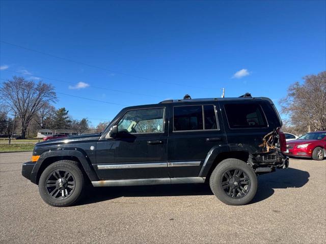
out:
M203 130L202 106L182 106L173 108L173 130Z

